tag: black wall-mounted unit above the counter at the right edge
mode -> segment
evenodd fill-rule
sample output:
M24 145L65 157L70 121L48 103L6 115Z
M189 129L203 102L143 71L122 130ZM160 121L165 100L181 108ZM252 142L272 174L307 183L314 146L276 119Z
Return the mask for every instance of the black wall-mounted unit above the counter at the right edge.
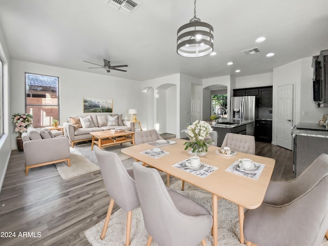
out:
M313 101L317 108L328 107L328 50L313 56Z

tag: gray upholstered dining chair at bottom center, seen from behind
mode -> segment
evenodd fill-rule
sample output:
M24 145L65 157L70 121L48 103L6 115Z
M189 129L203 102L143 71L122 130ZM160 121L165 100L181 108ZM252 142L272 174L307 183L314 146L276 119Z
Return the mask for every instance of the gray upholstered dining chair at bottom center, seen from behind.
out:
M133 171L149 233L147 245L154 239L161 246L206 244L213 217L210 212L190 198L167 189L158 171L133 163Z

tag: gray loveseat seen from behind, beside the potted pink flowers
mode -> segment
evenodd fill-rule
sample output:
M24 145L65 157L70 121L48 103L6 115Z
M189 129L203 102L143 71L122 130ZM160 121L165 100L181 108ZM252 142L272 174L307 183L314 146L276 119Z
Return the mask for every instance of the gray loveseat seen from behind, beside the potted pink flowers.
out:
M47 129L37 131L33 127L29 127L27 132L22 134L26 175L30 168L41 167L60 161L67 161L67 165L71 166L69 141L67 137L61 134L61 131L55 133Z

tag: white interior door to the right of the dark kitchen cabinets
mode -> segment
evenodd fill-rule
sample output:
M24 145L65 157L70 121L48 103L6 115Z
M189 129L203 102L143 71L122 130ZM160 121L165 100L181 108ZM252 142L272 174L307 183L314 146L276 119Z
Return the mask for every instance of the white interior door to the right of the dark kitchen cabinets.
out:
M277 88L277 145L293 149L293 85L279 86Z

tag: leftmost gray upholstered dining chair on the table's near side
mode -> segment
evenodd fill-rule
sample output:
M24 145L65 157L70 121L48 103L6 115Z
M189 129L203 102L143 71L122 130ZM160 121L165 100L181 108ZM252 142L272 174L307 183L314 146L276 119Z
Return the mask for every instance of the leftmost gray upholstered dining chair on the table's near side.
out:
M102 151L97 146L94 146L93 150L97 157L101 175L103 175L106 190L111 197L100 238L105 238L114 202L116 202L121 209L128 212L126 230L126 246L128 246L130 245L132 210L140 205L133 179L133 169L126 169L114 152Z

